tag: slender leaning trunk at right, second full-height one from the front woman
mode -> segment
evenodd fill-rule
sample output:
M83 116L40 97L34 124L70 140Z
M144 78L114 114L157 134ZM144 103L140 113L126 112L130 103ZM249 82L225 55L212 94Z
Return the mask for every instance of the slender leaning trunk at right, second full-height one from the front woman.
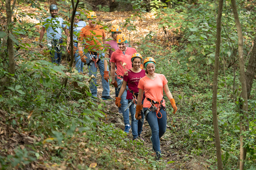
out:
M241 24L238 18L237 8L236 8L236 1L231 0L231 6L236 22L236 29L237 29L237 35L238 35L238 57L239 57L239 69L240 69L240 81L242 84L242 92L241 92L241 99L242 102L242 108L241 109L241 116L240 116L240 165L239 169L244 169L244 163L246 159L246 148L244 147L244 136L242 133L244 133L248 126L248 102L247 102L247 90L246 90L246 80L245 80L245 72L244 72L244 52L243 52L243 33Z

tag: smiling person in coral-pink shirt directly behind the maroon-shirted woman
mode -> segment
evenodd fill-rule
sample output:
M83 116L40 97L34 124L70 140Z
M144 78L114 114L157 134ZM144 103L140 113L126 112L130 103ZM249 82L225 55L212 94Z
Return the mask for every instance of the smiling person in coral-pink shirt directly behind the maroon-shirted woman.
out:
M117 49L115 52L112 53L111 55L111 78L112 78L112 84L118 89L118 94L119 90L122 86L123 82L123 77L124 77L124 72L132 68L132 62L131 58L134 53L137 53L135 48L127 47L126 43L126 36L121 33L120 35L117 36L116 42L118 44L119 49ZM115 65L117 66L116 69L116 74L115 76ZM131 125L129 122L129 109L125 108L128 106L128 100L126 99L127 91L125 90L123 95L121 96L121 108L122 108L122 113L124 117L124 124L125 124L125 129L124 132L129 133L131 129Z

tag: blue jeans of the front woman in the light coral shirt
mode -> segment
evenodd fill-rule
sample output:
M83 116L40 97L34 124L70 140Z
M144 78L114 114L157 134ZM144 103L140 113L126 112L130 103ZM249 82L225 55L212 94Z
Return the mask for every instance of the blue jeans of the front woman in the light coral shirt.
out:
M147 109L148 108L143 108L143 111L145 112ZM158 118L161 117L161 114L159 112L162 113L162 118ZM159 112L157 114L158 117L156 116L156 112L151 111L147 115L147 121L152 131L151 139L156 154L161 154L160 138L166 131L166 112L163 109L161 109Z

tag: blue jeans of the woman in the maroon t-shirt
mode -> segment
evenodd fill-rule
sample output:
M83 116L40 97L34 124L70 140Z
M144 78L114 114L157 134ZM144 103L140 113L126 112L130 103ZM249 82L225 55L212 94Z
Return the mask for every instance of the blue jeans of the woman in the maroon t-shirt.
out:
M128 100L129 103L130 101L132 100ZM144 114L141 113L141 120L137 120L135 118L136 107L134 108L134 104L132 104L129 108L130 108L131 117L132 117L132 135L133 135L133 139L136 139L138 138L138 135L140 135L142 132Z

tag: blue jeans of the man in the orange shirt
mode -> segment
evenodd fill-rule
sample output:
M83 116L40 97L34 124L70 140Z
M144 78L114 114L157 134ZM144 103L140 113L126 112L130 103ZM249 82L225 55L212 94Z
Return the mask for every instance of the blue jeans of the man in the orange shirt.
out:
M86 54L87 56L87 54ZM100 75L101 75L101 82L102 82L102 87L103 87L103 91L102 91L102 96L109 96L109 83L103 78L104 77L104 56L105 54L102 53L100 55L101 60L97 63L100 69ZM97 66L97 65L96 65ZM91 75L93 74L95 76L95 78L97 78L97 67L95 67L94 62L92 63L92 65L88 65L88 71L89 71L89 76L91 77ZM96 79L92 79L92 81L90 82L90 90L91 90L91 94L94 97L97 97L97 80Z

